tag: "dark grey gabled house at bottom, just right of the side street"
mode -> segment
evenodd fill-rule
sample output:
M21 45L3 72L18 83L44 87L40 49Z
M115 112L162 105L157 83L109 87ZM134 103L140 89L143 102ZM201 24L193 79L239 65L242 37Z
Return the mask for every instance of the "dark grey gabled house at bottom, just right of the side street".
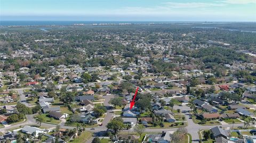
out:
M230 132L223 130L218 126L212 128L211 131L216 143L226 143L228 141Z

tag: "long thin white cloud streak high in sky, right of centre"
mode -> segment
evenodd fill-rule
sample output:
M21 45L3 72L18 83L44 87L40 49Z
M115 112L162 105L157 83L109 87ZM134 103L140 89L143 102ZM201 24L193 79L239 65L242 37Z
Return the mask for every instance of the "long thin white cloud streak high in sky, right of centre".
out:
M174 9L194 9L194 8L205 8L205 7L213 7L213 6L226 6L225 3L173 3L168 2L164 3L167 7Z

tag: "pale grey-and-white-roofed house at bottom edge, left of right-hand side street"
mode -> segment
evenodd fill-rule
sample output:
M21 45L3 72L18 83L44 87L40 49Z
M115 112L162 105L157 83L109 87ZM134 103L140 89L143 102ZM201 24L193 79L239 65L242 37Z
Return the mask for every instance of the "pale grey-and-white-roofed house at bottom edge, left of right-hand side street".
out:
M149 134L147 142L169 143L173 131L167 131L159 134Z

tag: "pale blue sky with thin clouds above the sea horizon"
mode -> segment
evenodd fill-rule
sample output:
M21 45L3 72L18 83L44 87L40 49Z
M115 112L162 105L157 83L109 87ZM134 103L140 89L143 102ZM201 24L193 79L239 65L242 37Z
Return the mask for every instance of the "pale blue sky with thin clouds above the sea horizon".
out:
M0 0L0 20L256 21L256 0Z

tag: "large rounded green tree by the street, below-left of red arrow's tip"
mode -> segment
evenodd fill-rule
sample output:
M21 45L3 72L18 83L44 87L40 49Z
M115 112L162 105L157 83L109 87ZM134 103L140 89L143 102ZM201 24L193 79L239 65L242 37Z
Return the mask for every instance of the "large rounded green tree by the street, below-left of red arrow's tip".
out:
M107 128L113 130L116 134L118 131L123 130L125 127L122 118L116 117L114 120L107 124Z

